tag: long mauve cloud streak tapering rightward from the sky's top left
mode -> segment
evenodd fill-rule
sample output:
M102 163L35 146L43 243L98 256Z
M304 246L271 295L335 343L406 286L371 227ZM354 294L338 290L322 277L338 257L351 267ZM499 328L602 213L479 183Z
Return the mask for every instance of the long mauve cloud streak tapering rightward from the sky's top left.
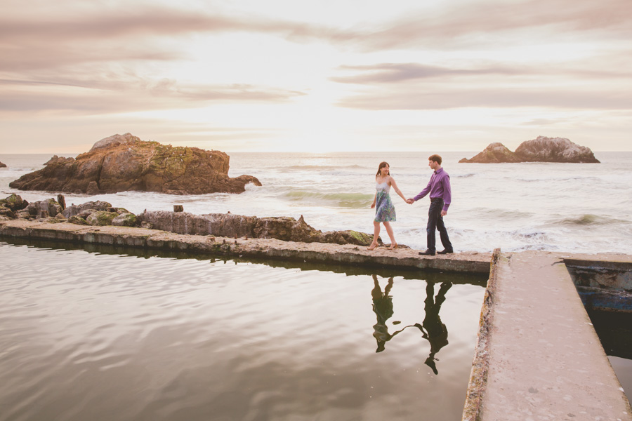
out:
M0 18L0 71L67 67L121 60L164 61L185 58L175 42L195 34L252 32L295 42L340 40L351 35L320 25L259 16L228 16L159 6L91 11L42 18Z

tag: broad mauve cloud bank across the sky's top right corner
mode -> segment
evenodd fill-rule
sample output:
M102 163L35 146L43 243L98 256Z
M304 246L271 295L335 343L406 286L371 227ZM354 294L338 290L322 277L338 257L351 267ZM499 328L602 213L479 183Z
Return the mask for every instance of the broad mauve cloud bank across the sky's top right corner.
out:
M525 29L534 40L629 39L632 35L632 2L610 0L479 1L452 5L407 16L362 34L354 41L365 51L397 48L463 48L489 44L510 45L511 34ZM501 36L503 34L503 36Z

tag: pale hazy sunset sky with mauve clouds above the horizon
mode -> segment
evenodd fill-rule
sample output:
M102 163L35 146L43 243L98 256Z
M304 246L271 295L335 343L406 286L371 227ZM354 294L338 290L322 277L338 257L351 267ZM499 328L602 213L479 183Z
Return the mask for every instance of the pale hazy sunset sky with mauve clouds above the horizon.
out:
M631 0L0 5L0 155L632 150Z

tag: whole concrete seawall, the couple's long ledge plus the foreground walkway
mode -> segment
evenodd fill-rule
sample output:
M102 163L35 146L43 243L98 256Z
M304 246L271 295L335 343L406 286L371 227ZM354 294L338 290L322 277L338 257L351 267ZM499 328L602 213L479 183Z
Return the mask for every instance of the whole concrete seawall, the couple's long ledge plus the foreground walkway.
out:
M600 272L600 276L581 282L593 286L607 283L614 289L620 283L619 289L627 294L629 272L625 268L632 267L630 255L495 250L493 254L422 257L418 250L405 248L369 251L362 246L331 243L234 239L155 229L85 227L25 220L0 222L1 238L489 274L463 420L632 421L630 403L588 319L567 267L575 268L571 272L577 271L577 267L597 268L594 269L597 272L614 271L610 275Z

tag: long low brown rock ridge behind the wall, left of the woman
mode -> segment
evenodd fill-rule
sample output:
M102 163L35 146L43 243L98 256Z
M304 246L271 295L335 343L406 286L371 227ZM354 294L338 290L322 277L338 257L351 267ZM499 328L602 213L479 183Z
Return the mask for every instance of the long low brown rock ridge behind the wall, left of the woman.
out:
M290 217L257 218L232 213L193 215L187 212L163 210L144 212L137 216L140 226L175 232L177 234L213 235L235 238L279 239L304 243L338 243L368 246L371 234L355 231L321 232L305 222Z

